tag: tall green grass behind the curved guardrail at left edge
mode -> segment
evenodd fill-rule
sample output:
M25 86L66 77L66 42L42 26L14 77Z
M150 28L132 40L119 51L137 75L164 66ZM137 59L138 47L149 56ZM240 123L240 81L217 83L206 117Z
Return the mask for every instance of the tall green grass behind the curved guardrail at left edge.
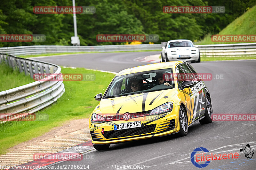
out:
M0 92L9 90L21 85L32 83L34 80L19 70L12 70L5 63L0 64Z

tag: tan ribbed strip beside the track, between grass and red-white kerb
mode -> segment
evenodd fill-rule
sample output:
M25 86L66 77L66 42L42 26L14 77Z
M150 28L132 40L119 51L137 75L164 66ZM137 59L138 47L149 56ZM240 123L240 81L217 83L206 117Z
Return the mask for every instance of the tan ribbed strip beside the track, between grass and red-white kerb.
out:
M71 120L61 127L18 144L0 156L0 165L14 166L33 160L35 153L55 153L90 139L89 119Z

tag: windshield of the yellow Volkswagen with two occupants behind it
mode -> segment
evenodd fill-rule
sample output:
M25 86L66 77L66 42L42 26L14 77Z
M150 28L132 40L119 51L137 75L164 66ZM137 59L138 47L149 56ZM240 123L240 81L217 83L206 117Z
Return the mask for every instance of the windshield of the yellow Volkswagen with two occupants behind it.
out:
M164 78L163 75L172 75L172 69L150 70L117 76L108 87L103 98L174 88L173 77Z

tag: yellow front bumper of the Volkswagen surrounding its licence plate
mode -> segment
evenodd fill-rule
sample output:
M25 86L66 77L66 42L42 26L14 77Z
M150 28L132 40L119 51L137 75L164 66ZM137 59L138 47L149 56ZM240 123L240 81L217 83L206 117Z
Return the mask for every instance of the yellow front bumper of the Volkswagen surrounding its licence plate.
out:
M91 123L90 133L93 144L115 144L132 140L159 137L179 132L178 107L173 107L171 112L156 116L143 116L130 119L129 121L119 120L104 123ZM141 122L141 127L114 130L114 124L127 122ZM104 133L102 133L104 128Z

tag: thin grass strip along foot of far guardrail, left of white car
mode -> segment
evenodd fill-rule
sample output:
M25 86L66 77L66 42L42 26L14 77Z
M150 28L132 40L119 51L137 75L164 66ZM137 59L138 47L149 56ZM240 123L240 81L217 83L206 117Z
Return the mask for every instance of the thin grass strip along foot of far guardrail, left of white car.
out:
M52 55L67 55L67 54L87 54L87 53L124 53L124 52L148 52L148 51L161 51L161 50L137 50L137 51L109 51L109 52L79 52L79 53L48 53L37 55L17 55L21 58L39 57L39 56L52 56Z

